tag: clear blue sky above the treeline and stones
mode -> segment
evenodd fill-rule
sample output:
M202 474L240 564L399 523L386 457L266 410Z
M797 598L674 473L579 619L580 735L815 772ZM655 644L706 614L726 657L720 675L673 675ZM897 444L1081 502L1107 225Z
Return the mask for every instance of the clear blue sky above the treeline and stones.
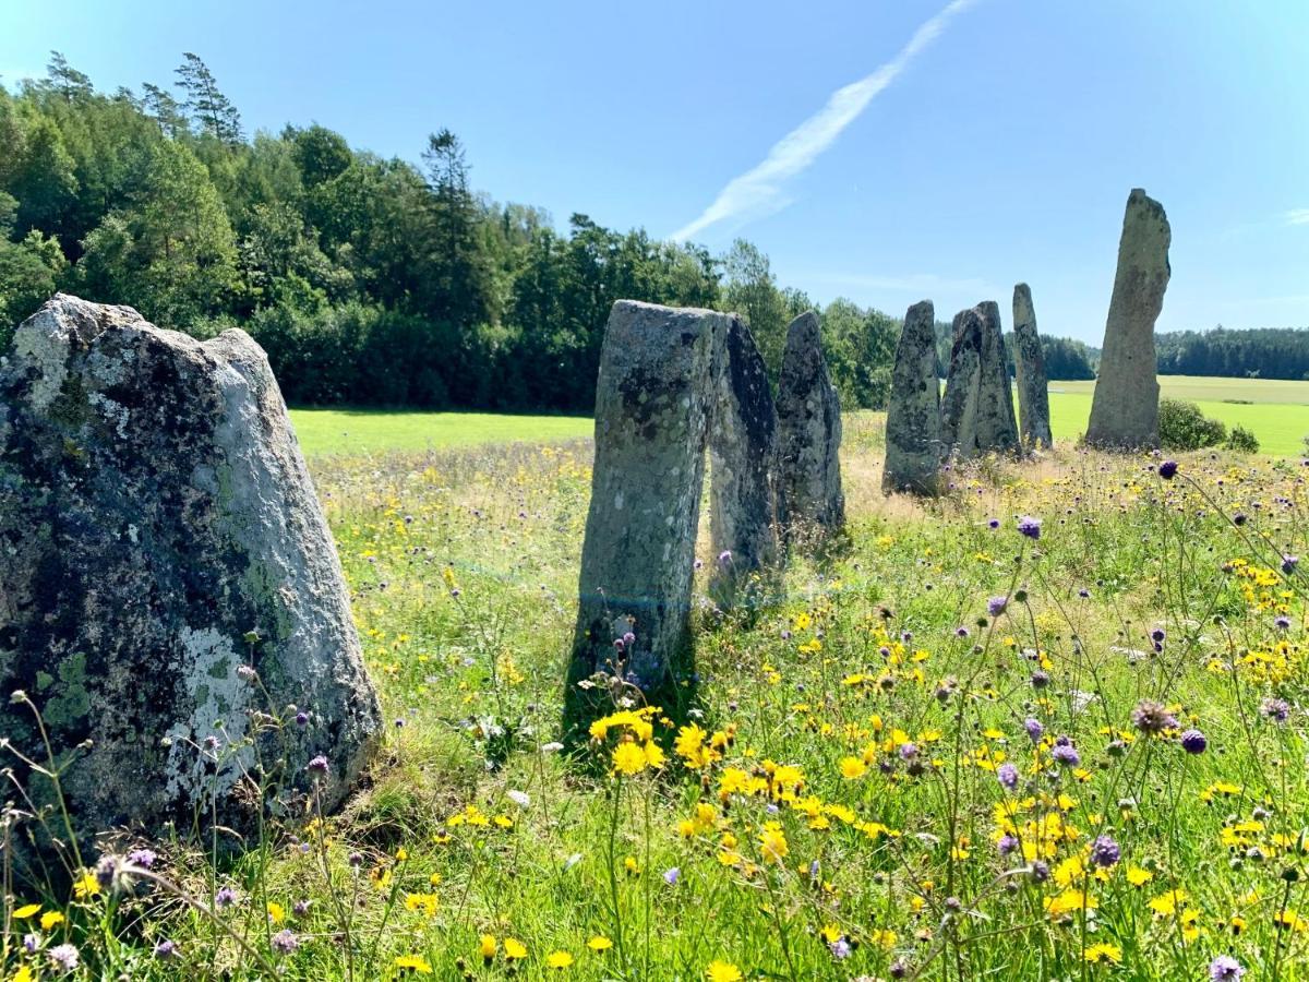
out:
M1161 330L1309 326L1305 0L0 7L0 80L50 48L106 90L195 51L247 128L384 156L448 126L497 199L744 236L819 301L948 318L1026 280L1042 331L1092 343L1140 186L1173 225Z

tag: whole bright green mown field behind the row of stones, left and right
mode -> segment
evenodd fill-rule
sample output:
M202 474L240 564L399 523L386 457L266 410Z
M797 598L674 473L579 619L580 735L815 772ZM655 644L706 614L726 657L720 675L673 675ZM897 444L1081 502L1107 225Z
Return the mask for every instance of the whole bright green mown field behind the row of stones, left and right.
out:
M1050 424L1055 439L1076 441L1085 432L1093 386L1094 382L1051 382ZM1160 376L1160 388L1165 397L1199 402L1206 415L1228 427L1247 427L1259 439L1261 453L1296 457L1305 449L1309 382ZM859 415L881 418L881 414ZM592 420L584 416L301 409L292 410L292 418L306 456L418 453L479 444L567 440L592 433Z

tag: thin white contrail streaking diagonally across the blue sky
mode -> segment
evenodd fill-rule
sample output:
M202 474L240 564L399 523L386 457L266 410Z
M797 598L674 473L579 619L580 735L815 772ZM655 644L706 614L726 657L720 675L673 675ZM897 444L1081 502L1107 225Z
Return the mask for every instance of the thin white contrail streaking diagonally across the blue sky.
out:
M702 229L724 219L744 213L776 211L784 207L785 202L779 203L781 182L813 164L818 155L827 149L840 136L840 132L859 118L873 97L895 81L895 77L905 71L915 55L945 30L956 14L973 3L974 0L952 0L944 10L914 31L914 37L895 58L872 75L836 89L827 100L826 106L774 144L761 164L740 177L732 178L713 199L713 204L706 208L704 213L695 221L674 232L673 238L685 242Z

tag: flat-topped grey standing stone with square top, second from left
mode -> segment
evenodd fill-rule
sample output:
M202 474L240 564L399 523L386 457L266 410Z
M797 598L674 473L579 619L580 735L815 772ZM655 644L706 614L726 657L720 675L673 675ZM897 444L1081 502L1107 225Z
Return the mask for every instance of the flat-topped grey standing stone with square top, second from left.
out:
M585 740L589 686L637 686L669 714L687 698L689 615L715 350L732 316L619 300L596 390L596 460L565 691ZM627 640L624 642L624 636ZM583 685L579 685L583 683Z

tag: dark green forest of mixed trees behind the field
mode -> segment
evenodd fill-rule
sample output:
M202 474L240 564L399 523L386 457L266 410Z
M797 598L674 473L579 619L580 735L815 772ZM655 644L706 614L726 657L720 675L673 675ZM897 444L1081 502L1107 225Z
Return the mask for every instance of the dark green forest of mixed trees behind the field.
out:
M474 190L448 130L418 164L318 124L247 135L194 54L110 94L52 52L46 77L0 85L0 344L62 289L195 336L243 327L296 405L567 412L593 405L619 297L737 310L772 371L816 308L843 403L885 406L899 318L814 304L744 240L716 255L580 212L562 230ZM1309 371L1300 333L1178 336L1162 371ZM1051 378L1093 377L1080 342L1043 344Z

